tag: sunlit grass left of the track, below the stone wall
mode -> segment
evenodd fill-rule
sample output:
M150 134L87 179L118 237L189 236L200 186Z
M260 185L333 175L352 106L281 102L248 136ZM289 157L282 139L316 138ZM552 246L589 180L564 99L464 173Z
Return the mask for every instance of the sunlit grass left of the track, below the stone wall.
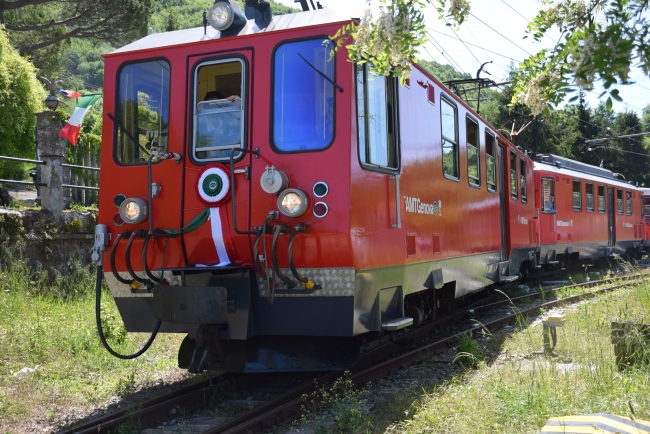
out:
M0 244L0 257L0 433L28 432L34 421L48 426L71 409L106 405L174 371L176 378L185 375L176 368L180 335L159 335L135 360L108 354L95 325L93 268L71 262L64 278L31 272L20 249ZM137 351L149 335L127 335L106 289L102 306L111 345L121 353Z

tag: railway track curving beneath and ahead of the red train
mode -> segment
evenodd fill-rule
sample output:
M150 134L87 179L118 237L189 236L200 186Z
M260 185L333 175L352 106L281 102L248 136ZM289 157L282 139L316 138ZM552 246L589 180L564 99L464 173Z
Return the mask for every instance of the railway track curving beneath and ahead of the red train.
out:
M356 387L363 387L370 381L381 378L405 366L417 363L434 354L448 350L456 344L461 335L468 331L471 331L474 336L477 336L484 330L494 331L515 322L518 317L537 315L540 308L549 309L561 304L575 303L597 294L639 283L646 278L646 274L637 273L622 278L604 279L564 286L544 292L530 293L520 297L494 301L481 306L472 306L469 309L458 311L419 329L407 332L397 341L393 339L389 343L379 346L368 344L364 347L365 353L360 357L359 363L353 369L349 380ZM594 287L600 288L571 297L546 301L547 299L553 298L560 289L588 289ZM534 302L534 300L540 299L541 302ZM529 306L517 307L517 305L522 304ZM492 315L491 318L481 321L481 327L477 327L477 323L474 323L475 326L470 325L461 332L452 332L448 333L447 336L440 337L440 330L452 324L459 324L463 320L467 321L471 316L487 314L494 311L502 312L503 310L508 310L509 312ZM425 343L416 348L412 348L416 346L416 343L420 344L422 342ZM279 375L295 374L223 374L171 394L146 401L136 408L124 409L86 422L78 427L66 429L61 431L60 434L107 433L109 430L113 430L120 424L130 420L137 420L142 427L155 427L168 421L170 414L175 413L177 410L182 413L205 407L225 383L232 383L236 390L242 391L260 387L265 381L277 380ZM309 396L310 400L313 399L316 402L321 399L319 392L316 390L316 383L320 385L331 384L341 376L341 372L328 372L317 377L316 381L311 377L307 381L301 382L274 398L203 431L203 434L261 433L268 432L274 427L290 423L302 415L305 395Z

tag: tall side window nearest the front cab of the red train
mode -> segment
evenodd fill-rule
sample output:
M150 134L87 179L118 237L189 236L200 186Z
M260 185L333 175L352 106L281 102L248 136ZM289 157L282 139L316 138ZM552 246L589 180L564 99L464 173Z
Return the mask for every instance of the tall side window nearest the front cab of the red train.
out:
M397 79L357 65L357 116L361 164L397 169Z

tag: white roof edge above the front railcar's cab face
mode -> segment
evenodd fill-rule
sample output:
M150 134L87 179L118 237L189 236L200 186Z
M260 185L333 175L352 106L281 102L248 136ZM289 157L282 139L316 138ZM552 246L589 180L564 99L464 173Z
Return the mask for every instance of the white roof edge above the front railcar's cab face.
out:
M350 17L348 13L337 11L336 9L318 9L313 11L297 12L295 14L277 15L273 17L269 26L262 30L255 25L254 20L249 20L237 36L231 37L252 35L255 33L277 32L299 27L333 24L350 21L351 19L352 17ZM221 37L221 32L210 26L207 27L205 35L203 31L203 27L194 27L192 29L176 30L173 32L153 33L142 39L131 42L124 47L118 48L117 50L110 52L109 55L170 47L173 45L183 45L193 42L210 41Z

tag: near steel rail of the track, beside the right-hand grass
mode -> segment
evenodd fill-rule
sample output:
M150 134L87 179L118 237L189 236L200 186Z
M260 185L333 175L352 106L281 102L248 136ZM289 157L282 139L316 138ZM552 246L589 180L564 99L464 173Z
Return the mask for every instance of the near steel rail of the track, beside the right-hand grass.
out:
M582 287L582 286L591 287L591 286L598 285L599 283L603 284L603 283L610 282L611 280L615 280L615 279L587 282L585 284L572 285L571 287ZM350 377L350 380L355 384L356 387L362 387L365 384L367 384L369 381L375 380L377 378L381 378L384 375L402 369L404 366L409 366L422 359L431 357L434 354L438 354L446 351L447 349L456 345L458 339L468 331L471 331L472 335L476 336L485 329L492 331L501 328L504 325L510 324L511 322L516 321L518 317L521 316L528 317L528 316L538 314L539 309L550 308L560 304L576 302L588 297L592 297L599 293L612 291L614 289L618 289L623 286L629 286L632 285L633 283L640 282L642 280L644 279L639 278L637 280L628 280L628 282L620 285L610 286L596 291L590 291L590 292L586 292L583 294L579 294L567 298L552 300L546 303L542 303L540 305L536 305L534 307L530 307L528 309L518 310L517 312L504 315L502 317L493 319L491 321L486 321L485 323L482 324L482 327L473 327L470 330L465 330L461 333L456 333L452 336L445 337L444 339L438 340L431 344L420 347L416 350L399 355L390 360L376 364L375 366L361 369L360 371L354 373ZM558 288L558 289L562 289L562 288ZM523 300L523 298L526 297L529 296L518 297L517 299ZM502 302L497 302L496 304L501 305L501 303ZM511 301L508 300L507 303L511 303ZM340 376L341 374L333 372L327 374L325 377L331 380L332 376L335 375ZM289 395L291 393L293 393L294 399L288 400ZM244 433L244 432L245 433L267 432L269 429L278 427L279 425L287 424L289 422L298 419L304 413L303 408L305 405L305 397L303 395L305 395L305 393L297 394L296 392L294 392L294 389L292 389L291 391L283 394L281 400L279 399L280 397L278 397L277 400L274 399L271 401L267 401L263 405L255 407L227 422L224 422L220 425L208 429L207 431L204 431L203 434L235 434L235 433ZM318 394L312 393L309 396L309 399L318 402L322 398L318 396Z

